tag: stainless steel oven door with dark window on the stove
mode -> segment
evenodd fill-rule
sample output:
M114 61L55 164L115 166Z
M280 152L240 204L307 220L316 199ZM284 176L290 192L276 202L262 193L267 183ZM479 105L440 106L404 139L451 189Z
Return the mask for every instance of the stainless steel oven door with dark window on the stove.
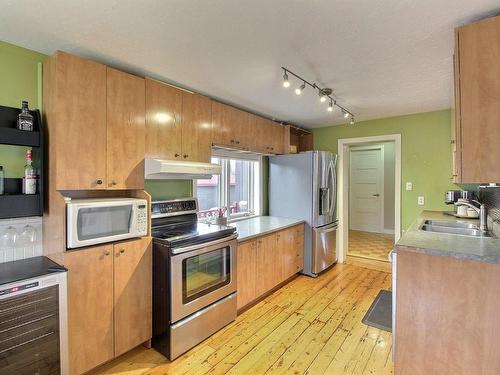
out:
M236 235L172 249L171 323L236 291Z

